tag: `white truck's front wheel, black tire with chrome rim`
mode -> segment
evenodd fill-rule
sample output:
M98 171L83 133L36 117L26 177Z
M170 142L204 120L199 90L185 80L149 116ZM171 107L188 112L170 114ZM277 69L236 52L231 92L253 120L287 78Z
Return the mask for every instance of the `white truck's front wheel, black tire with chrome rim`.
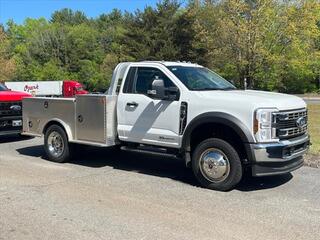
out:
M242 178L237 151L218 138L206 139L196 147L192 170L203 187L219 191L231 190Z

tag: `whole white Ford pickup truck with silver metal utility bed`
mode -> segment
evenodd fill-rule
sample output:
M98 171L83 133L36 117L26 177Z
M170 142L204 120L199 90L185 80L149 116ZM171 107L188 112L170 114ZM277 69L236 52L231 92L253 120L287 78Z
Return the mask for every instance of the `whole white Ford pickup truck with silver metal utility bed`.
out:
M23 100L23 133L44 135L48 158L65 162L77 144L173 155L203 187L230 190L253 176L303 165L310 140L305 102L237 90L216 73L183 62L126 62L105 95Z

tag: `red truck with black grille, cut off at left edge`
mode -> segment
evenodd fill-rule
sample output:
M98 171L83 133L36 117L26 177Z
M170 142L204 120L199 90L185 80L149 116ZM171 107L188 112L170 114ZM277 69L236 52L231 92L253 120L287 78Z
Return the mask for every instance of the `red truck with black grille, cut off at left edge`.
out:
M0 83L0 135L19 134L22 130L22 99L25 92L11 91Z

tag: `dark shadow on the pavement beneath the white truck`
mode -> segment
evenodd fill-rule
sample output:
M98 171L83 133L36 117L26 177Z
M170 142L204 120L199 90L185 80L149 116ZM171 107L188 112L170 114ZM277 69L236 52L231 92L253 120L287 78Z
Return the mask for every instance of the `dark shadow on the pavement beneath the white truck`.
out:
M21 155L45 158L42 145L17 149ZM123 171L136 172L157 177L170 178L182 183L200 187L191 169L182 159L158 157L146 154L124 152L117 149L81 147L68 164L91 168L112 167ZM235 190L249 192L279 187L292 179L292 174L253 178L245 176Z

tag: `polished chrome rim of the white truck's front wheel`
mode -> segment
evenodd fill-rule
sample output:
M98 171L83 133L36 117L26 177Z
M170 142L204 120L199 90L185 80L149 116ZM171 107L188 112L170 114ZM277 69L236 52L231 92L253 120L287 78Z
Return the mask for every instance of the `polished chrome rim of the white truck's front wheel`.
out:
M200 171L210 182L224 181L230 173L230 163L227 156L219 149L209 148L200 156Z

